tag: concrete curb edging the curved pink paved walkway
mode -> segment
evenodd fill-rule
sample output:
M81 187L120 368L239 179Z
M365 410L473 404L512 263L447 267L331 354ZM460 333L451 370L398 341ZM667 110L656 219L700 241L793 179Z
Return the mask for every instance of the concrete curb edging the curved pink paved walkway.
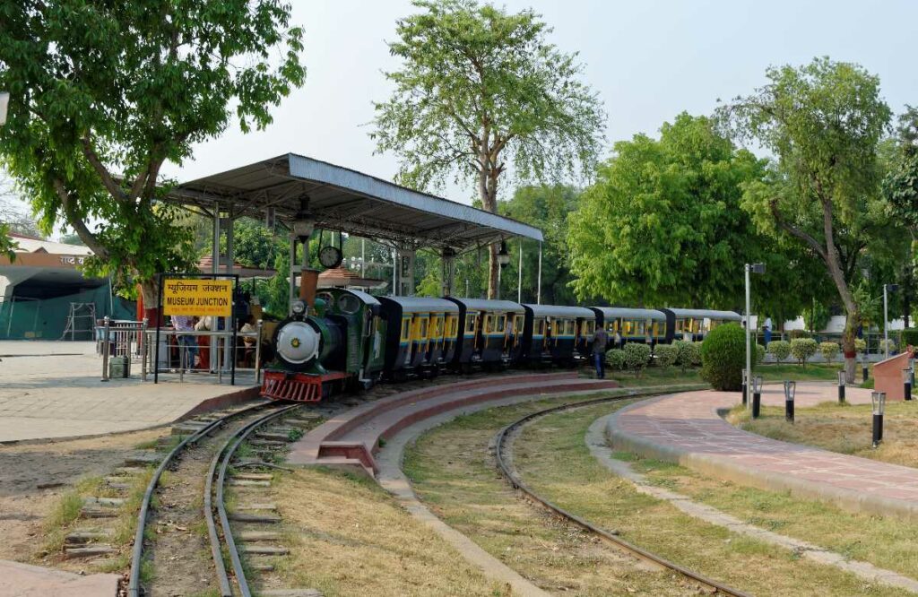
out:
M646 405L658 400L668 400L673 396L674 394L667 394L666 396L661 396L654 400L644 401L640 403L640 405ZM655 442L640 435L628 434L621 431L616 424L619 417L638 406L638 404L630 405L621 409L621 411L617 411L610 417L609 423L606 426L606 436L609 438L611 445L616 449L633 452L644 457L677 463L683 467L697 470L700 473L731 480L735 483L748 485L760 490L789 491L791 495L797 497L832 503L848 512L879 514L882 516L891 514L900 516L906 520L918 521L918 503L904 500L890 500L889 498L874 496L857 490L834 487L828 483L796 479L770 471L750 469L716 455L698 454L675 445L655 444ZM711 408L711 412L719 417L717 410L716 408ZM729 425L730 423L724 421L723 424ZM756 434L750 434L743 430L738 431L753 437L759 437ZM773 441L778 442L778 440ZM779 443L788 444L787 442ZM824 452L824 450L819 450L818 448L812 449ZM857 456L850 457L856 458ZM861 460L867 459L861 458ZM867 462L870 461L867 460Z

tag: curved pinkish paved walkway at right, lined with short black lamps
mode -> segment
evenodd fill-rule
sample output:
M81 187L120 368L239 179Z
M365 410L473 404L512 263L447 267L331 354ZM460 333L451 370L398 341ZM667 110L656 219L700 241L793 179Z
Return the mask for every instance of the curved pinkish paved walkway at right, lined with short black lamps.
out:
M798 407L836 400L831 384L798 383ZM870 390L847 389L847 400L868 403ZM782 404L783 389L767 387L763 402ZM918 469L794 445L736 429L718 415L740 400L711 390L639 402L610 417L607 434L618 449L655 457L766 490L832 502L853 512L918 520ZM800 416L805 414L800 413Z

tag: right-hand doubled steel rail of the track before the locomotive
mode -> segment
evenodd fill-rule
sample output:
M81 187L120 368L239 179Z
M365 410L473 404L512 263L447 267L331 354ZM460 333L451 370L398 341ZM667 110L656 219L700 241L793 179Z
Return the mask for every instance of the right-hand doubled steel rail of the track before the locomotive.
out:
M240 427L227 438L227 441L220 447L210 461L210 467L207 470L207 480L204 485L204 517L207 520L207 535L210 538L210 552L213 555L214 566L217 569L221 597L232 597L233 593L226 564L223 561L220 539L217 534L217 523L214 520L214 476L215 474L217 475L217 512L220 518L220 526L223 529L223 541L226 543L227 551L229 552L229 560L232 562L233 574L236 577L236 583L239 585L239 591L242 597L252 597L252 591L249 590L249 582L245 578L245 570L242 568L242 562L239 557L239 549L233 539L232 529L229 527L226 504L223 501L223 486L226 480L227 468L229 467L233 454L236 453L237 448L239 448L249 434L252 434L253 431L263 426L265 423L274 421L274 419L294 409L298 409L301 406L301 404L285 406ZM219 470L217 469L218 466Z

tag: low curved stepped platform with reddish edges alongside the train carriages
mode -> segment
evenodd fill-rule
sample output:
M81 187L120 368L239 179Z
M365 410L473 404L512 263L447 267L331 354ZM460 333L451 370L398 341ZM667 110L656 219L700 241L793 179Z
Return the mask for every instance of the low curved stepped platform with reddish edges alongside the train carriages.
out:
M375 454L380 446L412 423L442 412L513 396L531 396L536 400L565 392L616 387L615 381L578 377L577 372L569 371L520 373L406 391L367 402L322 423L297 441L287 463L353 467L375 477L379 471Z

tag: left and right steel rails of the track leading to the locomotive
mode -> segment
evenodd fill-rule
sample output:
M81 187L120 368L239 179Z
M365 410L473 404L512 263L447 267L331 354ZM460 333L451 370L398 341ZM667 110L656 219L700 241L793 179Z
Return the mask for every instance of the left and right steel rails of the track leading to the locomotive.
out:
M219 538L216 533L216 526L213 524L213 501L210 499L213 490L213 478L214 472L218 463L220 464L219 477L218 477L218 487L217 487L217 497L218 497L218 512L220 515L221 526L224 531L224 536L227 538L227 546L229 550L229 556L233 562L233 567L236 570L236 578L241 586L245 587L243 595L248 597L251 595L248 592L248 584L244 578L244 573L241 572L241 560L239 558L239 553L236 549L235 544L232 542L232 535L229 532L229 520L226 515L226 508L223 504L223 483L226 477L226 471L229 467L229 461L232 458L232 455L235 453L236 449L239 447L242 441L251 434L253 431L261 427L267 422L273 421L275 418L280 417L281 415L286 414L288 411L291 411L297 408L299 405L277 408L276 402L266 402L255 404L248 408L241 409L239 411L233 411L229 414L226 414L212 422L208 422L207 425L197 430L194 434L186 436L182 441L174 446L165 456L163 456L160 464L153 471L150 482L147 484L147 488L144 491L143 499L140 502L140 512L138 513L138 523L137 531L134 535L134 546L131 552L130 560L130 572L128 580L128 595L129 597L140 597L142 594L140 586L140 569L143 563L144 557L144 537L147 529L147 522L150 518L149 514L151 512L151 500L153 493L156 491L157 487L160 484L162 479L162 473L170 467L175 461L176 457L185 452L189 447L196 445L198 442L203 440L209 434L214 433L223 425L233 422L237 419L251 415L257 411L263 411L266 409L271 410L267 414L258 417L257 419L243 424L239 429L235 430L230 434L229 439L224 445L222 445L214 456L214 459L211 463L209 469L209 475L207 477L206 486L207 492L205 495L205 513L207 519L208 535L210 535L211 541L211 551L214 556L214 565L217 569L218 581L220 585L220 590L223 591L222 595L229 597L232 595L231 589L229 587L229 577L227 574L226 567L221 556L221 549L219 545Z

